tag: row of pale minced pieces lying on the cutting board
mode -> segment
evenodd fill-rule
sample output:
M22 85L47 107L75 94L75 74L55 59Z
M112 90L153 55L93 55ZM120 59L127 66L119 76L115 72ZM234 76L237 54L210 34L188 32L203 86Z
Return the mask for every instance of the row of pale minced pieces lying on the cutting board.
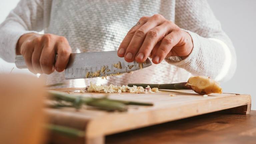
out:
M88 92L100 92L100 93L122 93L122 92L129 92L129 93L154 93L154 92L160 92L158 88L151 88L148 86L145 89L141 86L117 86L110 84L109 86L101 85L97 86L96 84L91 83L91 86L88 86L86 90Z

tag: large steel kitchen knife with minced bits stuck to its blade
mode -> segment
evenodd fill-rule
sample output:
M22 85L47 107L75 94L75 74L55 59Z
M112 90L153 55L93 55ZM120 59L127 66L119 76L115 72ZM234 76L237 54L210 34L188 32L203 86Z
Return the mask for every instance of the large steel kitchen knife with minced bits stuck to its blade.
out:
M57 56L56 56L57 57ZM27 68L23 56L15 57L17 68ZM117 51L72 53L65 69L65 79L80 79L129 73L151 66L150 60L143 63L126 62L117 56Z

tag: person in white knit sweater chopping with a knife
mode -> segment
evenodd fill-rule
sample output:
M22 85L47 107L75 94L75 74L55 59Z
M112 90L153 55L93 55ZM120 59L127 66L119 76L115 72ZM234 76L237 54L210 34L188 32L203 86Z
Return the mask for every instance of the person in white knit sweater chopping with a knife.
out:
M65 80L70 53L111 50L127 62L150 57L154 64L104 81ZM176 83L191 75L225 81L236 69L232 42L206 0L21 0L0 25L0 52L8 62L23 55L47 84L69 87Z

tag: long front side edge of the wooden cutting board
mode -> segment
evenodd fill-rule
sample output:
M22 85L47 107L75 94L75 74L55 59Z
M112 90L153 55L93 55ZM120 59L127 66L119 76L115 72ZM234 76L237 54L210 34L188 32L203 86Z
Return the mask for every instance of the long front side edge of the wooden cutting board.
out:
M234 104L229 105L229 106L228 105L223 105L222 108L216 107L215 109L212 109L212 110L209 110L209 111L201 111L201 112L197 111L198 109L193 109L197 112L196 113L193 112L193 113L188 114L188 115L185 115L183 113L182 116L177 116L177 117L173 117L173 118L166 117L165 119L161 119L161 120L158 120L156 122L153 122L150 119L152 119L152 118L154 119L154 117L157 118L158 116L153 116L153 117L152 116L151 117L147 116L147 114L142 114L142 113L148 113L148 111L144 111L144 112L140 113L137 116L140 116L140 117L144 116L144 118L147 118L149 120L147 123L137 124L137 125L132 126L132 127L130 127L130 126L126 126L126 127L117 126L116 129L112 129L112 130L110 130L110 128L108 128L108 127L104 127L104 125L105 126L111 126L112 124L117 124L118 122L115 122L115 120L119 120L123 115L129 115L129 114L127 114L127 113L114 114L114 115L116 115L115 117L113 117L114 115L112 115L112 114L104 115L103 117L93 119L92 121L90 121L88 123L87 129L86 129L86 132L87 132L86 137L98 137L99 135L109 135L109 134L114 134L114 133L123 132L123 131L127 131L127 130L142 128L142 127L146 127L146 126L156 125L156 124L160 124L160 123L170 122L170 121L174 121L174 120L179 120L179 119L183 119L183 118L193 117L193 116L197 116L197 115L202 115L202 114L206 114L206 113L211 113L211 112L216 112L216 111L220 111L220 110L226 110L226 109L230 109L230 108L235 108L235 107L251 104L251 96L248 95L248 94L241 94L241 95L239 95L239 97L237 95L234 95L232 97L234 97L234 99L233 99ZM228 99L230 99L230 97L221 97L220 99L225 101L225 99L228 100ZM215 100L216 102L219 101L219 99L213 99L213 100ZM207 101L207 99L206 99L206 101ZM239 101L239 103L236 103L238 101ZM201 101L201 106L203 106L202 105L203 103L204 102ZM198 105L197 103L193 102L190 107L193 108L193 105L195 105L195 104ZM200 108L200 110L202 110L202 109L204 109L204 108ZM154 113L159 113L158 111L162 111L162 109L152 110L152 111L150 111L150 113L153 113L153 112ZM168 109L166 111L170 111L170 109ZM190 112L191 112L191 109L190 109ZM189 112L187 112L187 113L189 113ZM130 113L130 114L132 115L132 113ZM106 121L109 122L110 119L112 119L112 121L110 123L106 123ZM128 120L129 118L123 118L123 119ZM104 120L104 122L102 122L102 120ZM101 125L101 124L103 124L103 125ZM95 130L97 130L97 131L95 131Z

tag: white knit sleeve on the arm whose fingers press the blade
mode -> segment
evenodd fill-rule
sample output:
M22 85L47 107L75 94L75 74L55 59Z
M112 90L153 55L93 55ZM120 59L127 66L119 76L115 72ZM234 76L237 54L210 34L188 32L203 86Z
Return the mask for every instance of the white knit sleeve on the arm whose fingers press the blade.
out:
M175 23L190 34L193 49L184 60L166 58L168 63L217 81L227 81L234 75L235 49L206 0L176 0Z

